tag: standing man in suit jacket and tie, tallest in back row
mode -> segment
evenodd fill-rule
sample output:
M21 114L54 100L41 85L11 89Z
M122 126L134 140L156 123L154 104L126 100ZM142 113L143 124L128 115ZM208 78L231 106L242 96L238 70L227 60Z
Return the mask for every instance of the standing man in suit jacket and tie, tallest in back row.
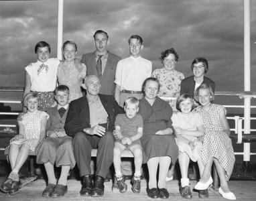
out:
M94 74L100 78L101 94L114 95L115 92L115 70L117 62L121 58L107 51L109 36L107 32L97 30L94 33L94 52L84 54L81 62L86 65L86 74Z

